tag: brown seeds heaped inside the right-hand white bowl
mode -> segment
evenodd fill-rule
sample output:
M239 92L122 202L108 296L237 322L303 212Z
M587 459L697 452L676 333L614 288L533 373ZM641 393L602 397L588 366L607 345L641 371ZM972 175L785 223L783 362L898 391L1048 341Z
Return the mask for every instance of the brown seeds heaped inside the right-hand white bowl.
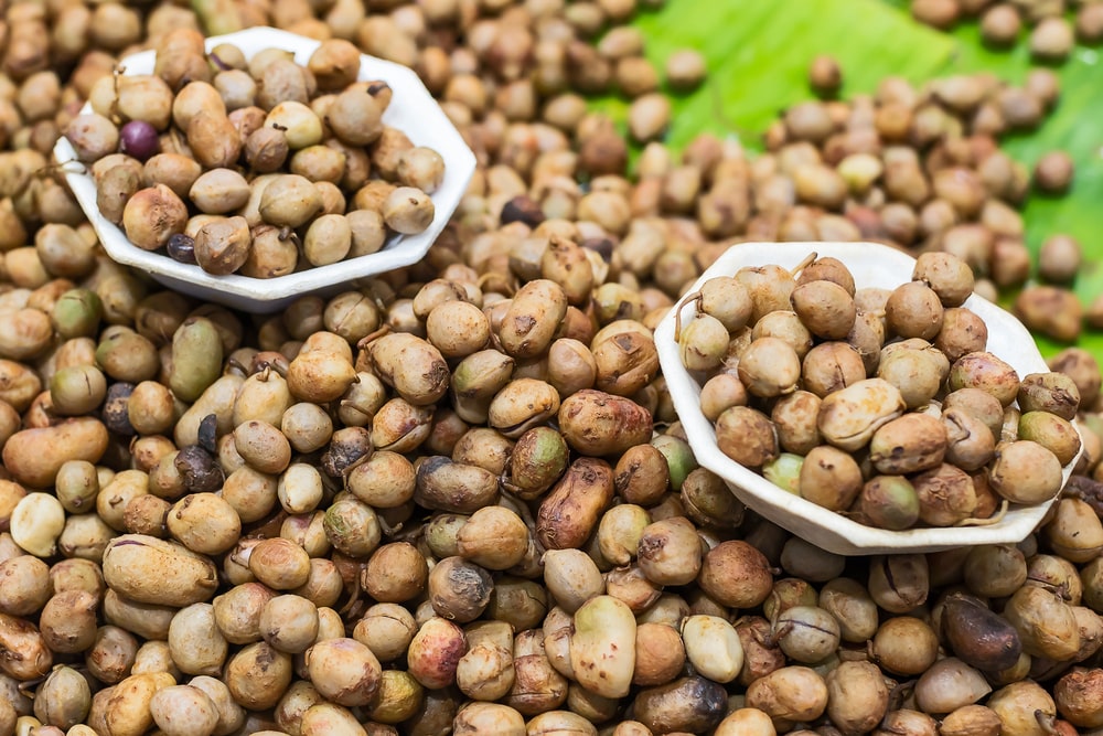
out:
M676 339L736 462L869 526L987 524L1052 499L1081 440L1071 381L987 352L972 290L946 253L891 290L811 254L706 281Z

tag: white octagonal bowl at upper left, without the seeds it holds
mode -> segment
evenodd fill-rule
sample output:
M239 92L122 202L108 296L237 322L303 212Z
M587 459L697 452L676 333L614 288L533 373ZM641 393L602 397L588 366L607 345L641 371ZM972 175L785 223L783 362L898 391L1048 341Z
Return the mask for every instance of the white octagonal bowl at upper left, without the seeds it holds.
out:
M210 38L206 47L210 51L219 43L237 45L246 57L264 49L285 49L295 52L296 62L306 64L320 42L276 29L254 28ZM154 56L153 51L143 51L127 56L120 64L125 74L152 74ZM361 279L420 260L452 216L475 170L474 153L411 70L362 55L357 78L383 79L389 84L395 93L383 115L384 122L400 129L415 146L431 147L445 159L445 180L431 195L435 215L429 227L417 235L393 236L378 253L270 279L236 274L213 276L199 266L178 263L130 243L121 230L100 215L92 174L84 171L84 167L67 164L66 180L111 258L192 297L249 312L269 313L287 308L303 295L355 288ZM90 110L92 106L85 105L82 113ZM73 147L64 137L57 141L54 157L62 163L76 160Z

